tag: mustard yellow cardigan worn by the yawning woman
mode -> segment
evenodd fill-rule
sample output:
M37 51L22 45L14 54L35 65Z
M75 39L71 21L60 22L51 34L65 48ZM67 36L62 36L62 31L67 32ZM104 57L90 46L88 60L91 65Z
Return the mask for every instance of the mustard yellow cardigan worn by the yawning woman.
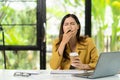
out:
M52 69L69 69L70 60L64 61L63 56L60 56L58 53L58 48L56 46L58 39L53 41L52 47L52 56L50 59L50 67ZM71 52L69 45L67 44L66 48L67 54ZM98 60L98 52L95 46L95 43L92 38L86 38L84 42L77 43L76 52L79 54L79 58L83 64L88 64L91 68L95 68ZM69 56L68 56L69 57Z

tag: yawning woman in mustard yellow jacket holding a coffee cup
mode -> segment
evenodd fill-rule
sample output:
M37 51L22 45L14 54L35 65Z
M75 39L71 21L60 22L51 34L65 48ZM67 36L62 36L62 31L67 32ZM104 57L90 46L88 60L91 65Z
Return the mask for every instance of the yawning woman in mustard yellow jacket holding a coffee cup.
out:
M80 22L74 14L63 17L59 38L53 41L50 66L52 69L66 70L71 66L75 69L94 69L98 60L98 53L93 40L87 36L80 36ZM70 58L71 52L78 56Z

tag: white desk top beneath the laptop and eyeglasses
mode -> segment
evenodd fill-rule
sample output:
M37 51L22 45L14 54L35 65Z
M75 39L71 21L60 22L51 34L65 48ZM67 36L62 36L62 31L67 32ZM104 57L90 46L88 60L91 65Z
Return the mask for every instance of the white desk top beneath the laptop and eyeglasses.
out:
M15 72L38 73L29 77L13 76ZM0 80L90 80L74 77L71 74L50 74L48 70L0 70ZM93 79L92 79L93 80ZM95 80L120 80L120 74Z

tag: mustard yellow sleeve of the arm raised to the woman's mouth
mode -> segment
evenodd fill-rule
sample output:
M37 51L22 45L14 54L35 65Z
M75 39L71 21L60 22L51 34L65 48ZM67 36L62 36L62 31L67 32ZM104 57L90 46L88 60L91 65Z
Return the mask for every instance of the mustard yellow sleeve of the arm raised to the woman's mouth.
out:
M55 39L52 44L52 56L50 59L50 67L52 69L58 69L62 61L62 56L59 55L58 48L56 46L57 42L58 39Z

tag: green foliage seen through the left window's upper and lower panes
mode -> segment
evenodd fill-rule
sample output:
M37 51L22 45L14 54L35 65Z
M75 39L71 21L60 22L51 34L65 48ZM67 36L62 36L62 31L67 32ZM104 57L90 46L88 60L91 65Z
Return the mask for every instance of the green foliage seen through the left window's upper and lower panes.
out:
M0 1L0 24L4 30L5 45L36 45L36 5L33 0ZM39 69L38 51L5 52L7 69ZM3 63L3 52L0 51L0 69L4 68Z

